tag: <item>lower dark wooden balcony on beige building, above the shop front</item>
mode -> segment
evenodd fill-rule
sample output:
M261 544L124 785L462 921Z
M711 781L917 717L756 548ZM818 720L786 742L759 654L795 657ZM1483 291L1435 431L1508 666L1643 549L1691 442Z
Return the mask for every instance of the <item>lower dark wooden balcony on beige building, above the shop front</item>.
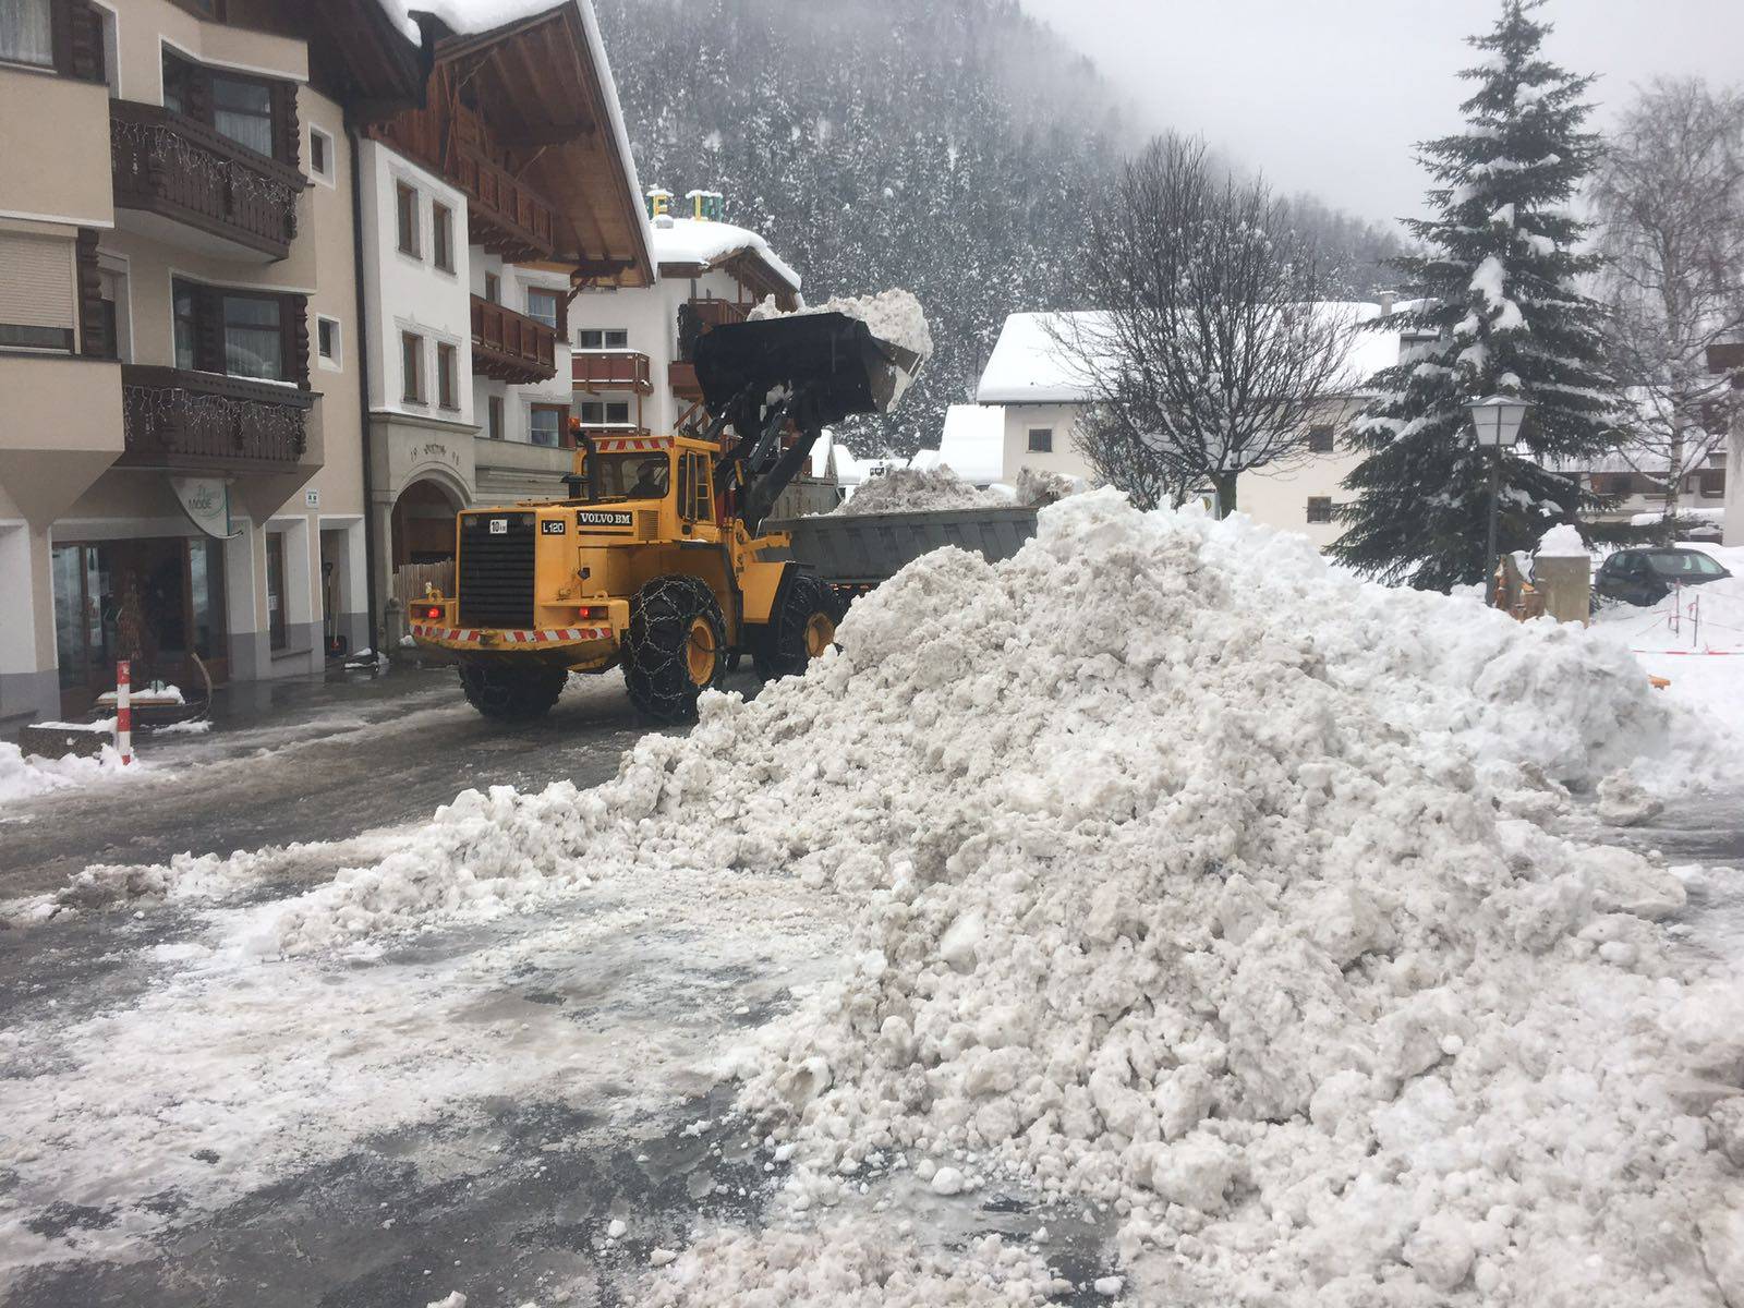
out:
M312 391L246 377L122 364L120 464L288 473L309 448Z

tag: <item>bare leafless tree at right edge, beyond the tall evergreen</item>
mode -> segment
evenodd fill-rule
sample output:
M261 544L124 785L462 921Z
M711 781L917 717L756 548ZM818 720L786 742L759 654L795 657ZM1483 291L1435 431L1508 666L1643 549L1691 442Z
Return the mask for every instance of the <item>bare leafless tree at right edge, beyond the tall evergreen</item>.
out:
M1594 178L1610 338L1636 401L1624 453L1683 480L1725 443L1744 392L1707 371L1707 347L1744 331L1744 96L1659 80L1624 115Z

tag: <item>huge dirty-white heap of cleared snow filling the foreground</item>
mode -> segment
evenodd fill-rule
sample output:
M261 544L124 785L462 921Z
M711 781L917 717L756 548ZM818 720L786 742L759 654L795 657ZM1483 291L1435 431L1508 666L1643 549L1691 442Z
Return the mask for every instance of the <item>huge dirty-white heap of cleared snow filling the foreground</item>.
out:
M1744 1303L1744 989L1669 950L1662 867L1516 816L1700 726L1580 628L1242 518L1092 492L1039 523L916 562L839 652L705 696L607 787L473 802L276 947L787 874L860 923L732 1060L795 1223L912 1168L1106 1205L1134 1301ZM806 1256L715 1238L739 1273L705 1247L661 1303Z

